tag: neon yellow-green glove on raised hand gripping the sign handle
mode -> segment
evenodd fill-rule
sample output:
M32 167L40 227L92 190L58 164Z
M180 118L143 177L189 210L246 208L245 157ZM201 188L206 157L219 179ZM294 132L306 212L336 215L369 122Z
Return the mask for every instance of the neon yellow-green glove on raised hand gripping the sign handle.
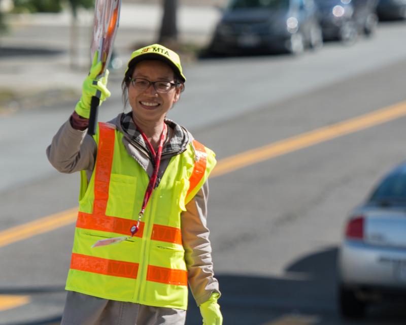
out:
M101 103L109 98L111 95L109 89L107 89L107 78L109 77L109 70L106 70L103 78L96 79L97 75L101 71L102 66L102 62L97 62L97 52L94 53L89 75L86 77L82 85L82 97L75 107L75 112L82 117L89 118L90 116L90 102L92 96L98 97L100 99L99 105L101 105Z

